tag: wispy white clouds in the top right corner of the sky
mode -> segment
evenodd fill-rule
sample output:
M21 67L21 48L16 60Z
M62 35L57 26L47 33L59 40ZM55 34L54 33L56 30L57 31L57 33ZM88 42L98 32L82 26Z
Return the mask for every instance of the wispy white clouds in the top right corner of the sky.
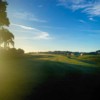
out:
M59 6L72 9L73 11L81 10L89 16L100 16L99 0L58 0Z

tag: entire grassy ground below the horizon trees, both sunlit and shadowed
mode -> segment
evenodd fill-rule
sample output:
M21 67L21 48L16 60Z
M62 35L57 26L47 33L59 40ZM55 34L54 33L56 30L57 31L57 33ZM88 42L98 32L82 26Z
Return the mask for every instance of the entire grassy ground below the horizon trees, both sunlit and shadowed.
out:
M0 100L33 100L39 97L46 98L46 96L48 99L55 93L57 98L62 92L64 96L65 93L73 95L73 91L75 97L80 93L83 95L84 92L88 96L90 93L92 95L91 91L95 90L93 88L99 89L99 61L98 55L67 57L34 54L10 59L1 58ZM87 95L84 94L85 96ZM87 97L88 100L89 98Z

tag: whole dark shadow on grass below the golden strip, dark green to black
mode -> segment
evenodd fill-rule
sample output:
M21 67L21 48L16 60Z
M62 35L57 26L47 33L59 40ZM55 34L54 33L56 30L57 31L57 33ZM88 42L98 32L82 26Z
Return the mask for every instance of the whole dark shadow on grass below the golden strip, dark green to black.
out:
M24 100L100 99L99 68L82 68L79 65L45 61L42 70L45 73L45 80Z

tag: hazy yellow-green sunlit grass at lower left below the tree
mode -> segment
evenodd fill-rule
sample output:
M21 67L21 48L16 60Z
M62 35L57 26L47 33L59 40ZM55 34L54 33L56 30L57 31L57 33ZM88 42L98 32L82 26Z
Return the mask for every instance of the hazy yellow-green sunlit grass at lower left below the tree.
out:
M0 61L0 97L14 99L15 95L28 94L29 88L35 87L43 77L39 66L25 59Z

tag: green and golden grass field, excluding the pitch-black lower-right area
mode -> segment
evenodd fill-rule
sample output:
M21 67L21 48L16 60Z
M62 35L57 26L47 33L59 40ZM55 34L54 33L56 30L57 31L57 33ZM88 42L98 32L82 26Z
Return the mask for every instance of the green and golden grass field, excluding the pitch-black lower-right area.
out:
M95 59L95 60L94 60ZM48 78L99 72L100 56L26 55L0 58L0 100L22 100Z

